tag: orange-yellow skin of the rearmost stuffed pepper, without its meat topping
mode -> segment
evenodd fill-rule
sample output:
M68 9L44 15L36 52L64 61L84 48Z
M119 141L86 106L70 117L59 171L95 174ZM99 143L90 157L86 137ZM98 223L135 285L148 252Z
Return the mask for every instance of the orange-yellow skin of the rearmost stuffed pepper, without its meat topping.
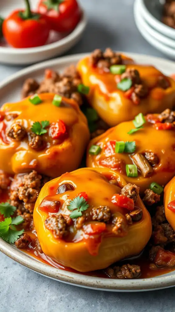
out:
M126 56L122 58L127 60ZM129 60L129 59L128 59ZM125 97L125 92L117 89L116 75L93 67L89 57L79 61L78 71L83 84L90 87L88 97L92 107L98 115L113 127L123 121L134 119L139 113L160 113L166 108L172 109L175 100L175 81L166 77L170 87L166 90L156 87L158 77L163 74L154 66L138 64L126 65L126 68L137 69L144 84L149 88L149 94L140 99L140 104L135 105L132 100ZM117 75L118 76L118 75Z

